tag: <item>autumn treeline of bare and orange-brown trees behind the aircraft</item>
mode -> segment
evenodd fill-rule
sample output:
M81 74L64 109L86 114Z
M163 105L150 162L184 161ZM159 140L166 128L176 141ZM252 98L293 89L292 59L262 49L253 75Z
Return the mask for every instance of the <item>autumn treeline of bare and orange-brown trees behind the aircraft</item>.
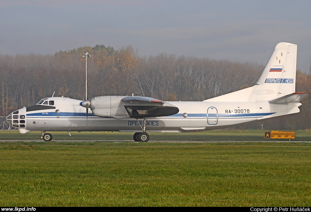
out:
M87 59L88 98L134 93L168 101L202 101L253 86L264 68L254 63L167 54L139 57L131 46L118 50L84 46L55 55L0 55L0 115L36 104L54 91L54 96L83 100L86 59L81 55L85 51L91 55ZM310 74L297 71L296 91L311 91ZM310 129L306 120L310 100L309 96L303 100L299 115L288 116L286 121L272 119L277 123L266 121L264 125ZM258 128L261 123L247 127Z

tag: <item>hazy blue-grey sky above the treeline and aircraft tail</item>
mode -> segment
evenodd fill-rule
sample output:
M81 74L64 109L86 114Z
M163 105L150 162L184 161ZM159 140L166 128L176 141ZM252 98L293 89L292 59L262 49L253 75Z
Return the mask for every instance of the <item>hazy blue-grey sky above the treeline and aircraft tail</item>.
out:
M309 72L310 0L0 0L0 55L131 45L160 53L265 65L279 42L298 45Z

